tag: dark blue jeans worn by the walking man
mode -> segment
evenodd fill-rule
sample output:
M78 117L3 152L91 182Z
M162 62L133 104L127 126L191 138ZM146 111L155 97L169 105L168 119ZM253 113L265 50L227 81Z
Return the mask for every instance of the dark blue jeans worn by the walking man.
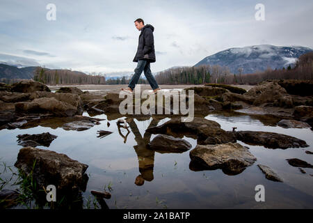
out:
M147 78L147 81L149 82L152 89L159 89L159 85L157 81L154 79L152 72L150 70L150 62L145 60L139 60L137 63L137 67L135 68L135 74L133 77L131 77L131 80L128 84L129 88L131 90L134 90L135 85L137 84L139 77L141 77L141 73L145 73L145 77Z

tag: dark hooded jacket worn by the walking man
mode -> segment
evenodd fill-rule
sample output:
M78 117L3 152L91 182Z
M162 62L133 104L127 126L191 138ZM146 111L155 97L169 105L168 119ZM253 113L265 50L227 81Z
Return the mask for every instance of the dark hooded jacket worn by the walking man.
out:
M134 62L145 59L150 63L155 62L154 52L154 38L153 38L154 27L150 24L146 24L141 28L141 34L138 40L138 49L134 57Z

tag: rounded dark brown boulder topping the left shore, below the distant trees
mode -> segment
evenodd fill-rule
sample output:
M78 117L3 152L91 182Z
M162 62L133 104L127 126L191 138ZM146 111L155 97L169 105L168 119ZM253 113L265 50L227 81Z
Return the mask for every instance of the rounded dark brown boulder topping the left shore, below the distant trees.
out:
M25 79L21 82L17 82L12 84L11 91L14 92L22 92L22 93L30 93L34 91L49 91L50 89L40 82L35 82L31 79Z

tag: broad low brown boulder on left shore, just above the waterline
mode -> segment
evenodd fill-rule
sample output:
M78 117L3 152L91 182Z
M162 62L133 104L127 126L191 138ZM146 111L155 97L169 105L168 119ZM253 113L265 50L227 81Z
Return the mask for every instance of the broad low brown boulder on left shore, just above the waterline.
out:
M26 113L49 112L56 116L74 116L75 114L80 114L77 107L67 102L56 100L56 98L35 98L31 102L17 102L15 103L15 110Z

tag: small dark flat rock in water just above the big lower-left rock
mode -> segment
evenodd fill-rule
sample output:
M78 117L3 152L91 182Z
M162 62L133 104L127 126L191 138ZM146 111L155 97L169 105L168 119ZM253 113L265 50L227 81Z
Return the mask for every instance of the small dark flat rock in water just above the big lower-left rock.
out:
M41 134L18 134L17 142L20 146L46 146L49 147L51 142L57 138L56 135L44 132Z

